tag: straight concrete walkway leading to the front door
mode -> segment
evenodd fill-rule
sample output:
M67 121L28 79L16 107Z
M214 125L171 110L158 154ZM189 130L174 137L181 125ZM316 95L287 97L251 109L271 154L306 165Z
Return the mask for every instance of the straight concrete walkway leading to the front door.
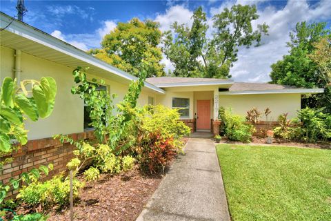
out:
M214 143L190 138L137 221L230 220Z

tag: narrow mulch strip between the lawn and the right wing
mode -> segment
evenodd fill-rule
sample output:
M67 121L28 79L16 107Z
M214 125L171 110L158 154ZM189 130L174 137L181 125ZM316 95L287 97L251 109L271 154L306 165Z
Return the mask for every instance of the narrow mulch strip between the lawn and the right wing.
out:
M223 137L221 143L225 144L243 144L242 142L235 142L228 140L226 137ZM252 137L250 144L266 144L266 138L263 137ZM322 149L331 149L331 142L317 142L317 143L307 143L303 141L288 141L286 142L280 138L272 138L272 146L298 146L304 148L322 148Z

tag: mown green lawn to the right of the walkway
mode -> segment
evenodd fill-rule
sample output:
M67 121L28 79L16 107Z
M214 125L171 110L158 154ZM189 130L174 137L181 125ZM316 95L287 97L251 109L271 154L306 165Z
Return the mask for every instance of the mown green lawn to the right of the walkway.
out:
M232 220L331 220L331 150L220 144Z

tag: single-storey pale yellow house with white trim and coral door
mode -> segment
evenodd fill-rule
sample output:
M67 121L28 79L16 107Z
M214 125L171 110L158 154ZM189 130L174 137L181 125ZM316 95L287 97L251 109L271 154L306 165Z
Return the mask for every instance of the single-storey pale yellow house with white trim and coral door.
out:
M42 140L59 133L83 133L89 129L88 124L84 124L88 119L84 119L87 115L84 115L83 101L70 93L74 85L72 70L77 66L90 67L90 79L104 79L103 89L118 95L115 104L123 99L130 82L137 79L2 12L0 26L3 29L0 32L1 83L6 76L19 81L50 76L57 81L52 115L38 122L26 121L30 140ZM146 79L138 103L180 108L181 119L192 131L210 131L218 117L219 106L231 107L233 113L240 115L245 115L252 107L261 110L268 107L272 111L270 119L277 120L281 113L289 113L292 118L301 108L301 95L322 92L320 88L237 83L232 79L153 77Z

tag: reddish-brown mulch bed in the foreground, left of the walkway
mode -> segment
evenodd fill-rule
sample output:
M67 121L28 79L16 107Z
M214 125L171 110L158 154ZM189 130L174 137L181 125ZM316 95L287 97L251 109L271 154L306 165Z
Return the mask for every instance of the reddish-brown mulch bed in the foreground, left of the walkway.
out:
M81 189L74 220L136 220L161 179L161 175L143 175L138 167L118 175L101 175ZM70 220L70 209L51 211L49 220Z

